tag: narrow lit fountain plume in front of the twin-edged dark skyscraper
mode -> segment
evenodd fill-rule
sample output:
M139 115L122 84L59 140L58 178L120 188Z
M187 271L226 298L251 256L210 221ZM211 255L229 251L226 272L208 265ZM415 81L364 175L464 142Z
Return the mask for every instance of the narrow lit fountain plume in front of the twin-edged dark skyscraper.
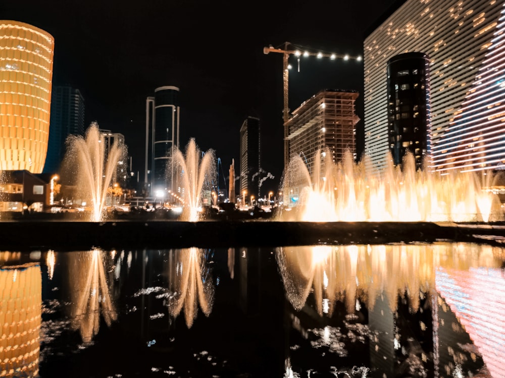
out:
M190 222L197 221L204 184L213 182L216 175L214 152L209 150L200 158L200 150L194 139L190 139L186 146L185 156L179 150L174 150L172 164L177 172L179 196L184 201L181 219Z

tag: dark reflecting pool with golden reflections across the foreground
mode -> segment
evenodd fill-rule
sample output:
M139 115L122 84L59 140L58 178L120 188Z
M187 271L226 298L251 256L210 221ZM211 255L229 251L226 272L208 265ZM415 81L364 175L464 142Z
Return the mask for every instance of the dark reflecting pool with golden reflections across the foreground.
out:
M502 377L505 249L0 252L0 376Z

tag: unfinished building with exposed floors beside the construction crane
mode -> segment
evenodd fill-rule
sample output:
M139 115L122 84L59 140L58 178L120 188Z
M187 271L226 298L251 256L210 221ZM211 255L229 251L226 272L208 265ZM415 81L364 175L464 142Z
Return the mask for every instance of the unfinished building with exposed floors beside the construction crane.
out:
M299 155L309 168L318 150L328 148L333 162L346 151L356 160L356 91L324 89L302 103L287 121L289 156Z

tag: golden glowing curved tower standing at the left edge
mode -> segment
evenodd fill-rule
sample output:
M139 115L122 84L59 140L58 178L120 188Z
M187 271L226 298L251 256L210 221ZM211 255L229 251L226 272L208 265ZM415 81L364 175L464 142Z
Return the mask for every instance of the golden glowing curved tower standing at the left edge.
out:
M41 173L47 153L55 39L0 21L0 169Z

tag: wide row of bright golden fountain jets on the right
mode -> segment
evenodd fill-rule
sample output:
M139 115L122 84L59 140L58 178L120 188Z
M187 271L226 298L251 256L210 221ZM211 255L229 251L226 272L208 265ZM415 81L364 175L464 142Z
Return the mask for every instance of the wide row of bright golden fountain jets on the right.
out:
M403 167L392 159L381 177L365 172L365 159L355 164L350 153L334 163L329 151L314 156L312 172L294 156L284 173L284 197L303 221L489 221L502 220L497 196L483 191L492 181L473 173L416 171L408 154ZM491 185L488 185L489 187Z

